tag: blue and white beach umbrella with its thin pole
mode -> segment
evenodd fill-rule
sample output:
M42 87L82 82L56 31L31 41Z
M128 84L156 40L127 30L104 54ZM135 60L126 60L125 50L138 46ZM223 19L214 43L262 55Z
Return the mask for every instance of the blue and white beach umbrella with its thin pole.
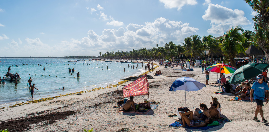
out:
M186 103L186 91L198 91L202 89L203 87L206 87L205 84L200 83L190 77L181 77L174 81L174 83L171 85L169 91L177 91L177 90L184 90L185 91L185 105L187 107Z

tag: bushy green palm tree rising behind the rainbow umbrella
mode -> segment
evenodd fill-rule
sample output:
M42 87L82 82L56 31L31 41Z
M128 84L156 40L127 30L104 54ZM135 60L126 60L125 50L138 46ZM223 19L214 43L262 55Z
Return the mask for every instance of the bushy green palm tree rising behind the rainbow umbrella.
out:
M231 28L229 31L224 33L224 40L222 41L221 50L224 53L224 57L229 58L233 67L235 65L235 56L239 53L245 54L245 49L240 43L240 37L242 35L243 28L241 26L236 26ZM228 62L227 60L225 60Z

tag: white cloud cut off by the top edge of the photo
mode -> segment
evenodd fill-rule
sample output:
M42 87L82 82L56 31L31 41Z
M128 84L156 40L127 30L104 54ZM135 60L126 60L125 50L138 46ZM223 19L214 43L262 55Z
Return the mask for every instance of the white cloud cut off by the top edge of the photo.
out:
M184 5L196 5L196 0L159 0L160 2L164 3L165 8L178 8L180 10Z

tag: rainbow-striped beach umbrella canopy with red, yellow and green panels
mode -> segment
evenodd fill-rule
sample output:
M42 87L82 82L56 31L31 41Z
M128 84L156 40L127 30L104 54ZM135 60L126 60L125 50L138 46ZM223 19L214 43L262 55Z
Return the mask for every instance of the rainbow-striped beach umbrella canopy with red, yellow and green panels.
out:
M207 67L206 70L208 70L209 72L229 74L229 73L234 73L237 69L235 67L228 66L226 64L218 63L210 67Z

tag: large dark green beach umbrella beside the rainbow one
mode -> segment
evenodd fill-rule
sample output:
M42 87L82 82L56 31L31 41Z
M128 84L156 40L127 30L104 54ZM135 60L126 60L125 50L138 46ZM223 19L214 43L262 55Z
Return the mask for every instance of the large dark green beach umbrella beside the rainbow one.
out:
M267 63L251 63L238 68L231 76L229 83L237 84L245 81L246 79L252 79L257 75L262 74L269 67Z

